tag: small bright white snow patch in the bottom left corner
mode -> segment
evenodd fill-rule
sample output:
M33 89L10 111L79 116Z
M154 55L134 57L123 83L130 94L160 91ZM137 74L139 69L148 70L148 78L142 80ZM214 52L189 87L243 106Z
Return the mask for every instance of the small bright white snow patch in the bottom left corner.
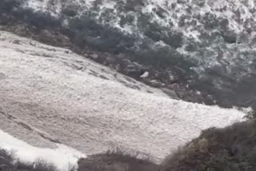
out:
M66 145L58 145L58 149L37 148L10 136L2 130L0 130L0 149L6 149L7 152L12 153L16 160L31 164L43 160L55 165L61 171L77 169L78 159L86 157L85 154Z

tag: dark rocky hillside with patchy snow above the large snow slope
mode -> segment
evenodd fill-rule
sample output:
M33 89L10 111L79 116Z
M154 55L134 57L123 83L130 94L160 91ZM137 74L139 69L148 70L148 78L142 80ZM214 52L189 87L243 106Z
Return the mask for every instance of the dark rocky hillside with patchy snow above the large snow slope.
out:
M3 26L54 30L82 53L96 50L94 60L186 101L256 107L252 0L23 0L2 10Z

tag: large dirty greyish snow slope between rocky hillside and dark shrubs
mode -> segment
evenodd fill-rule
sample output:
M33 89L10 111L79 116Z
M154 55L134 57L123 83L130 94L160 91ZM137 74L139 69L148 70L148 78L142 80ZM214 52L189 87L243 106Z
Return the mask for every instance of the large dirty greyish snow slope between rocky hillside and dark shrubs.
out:
M202 129L244 117L236 109L170 99L69 50L3 31L0 104L0 117L49 141L86 154L119 146L156 161ZM0 120L0 129L18 133L11 126ZM25 133L17 136L26 140Z

